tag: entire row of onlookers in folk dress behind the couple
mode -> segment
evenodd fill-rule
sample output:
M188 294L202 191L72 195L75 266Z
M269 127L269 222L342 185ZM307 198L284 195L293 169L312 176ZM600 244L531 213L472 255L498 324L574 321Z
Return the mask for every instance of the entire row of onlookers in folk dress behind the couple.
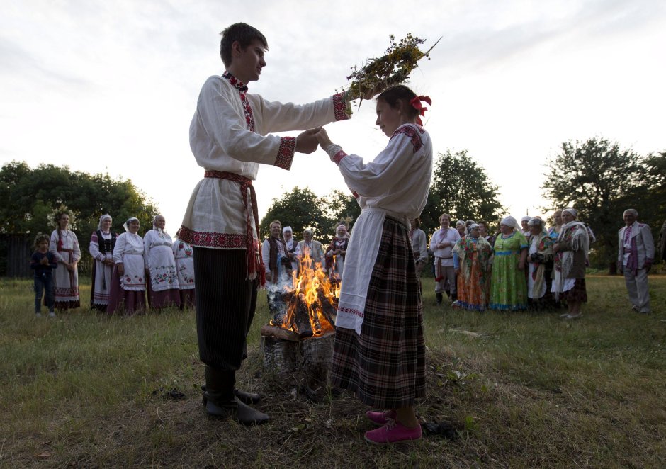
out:
M650 311L648 271L655 261L655 244L650 227L637 221L636 210L623 214L625 226L619 230L619 271L633 310ZM91 271L90 306L100 312L142 312L147 307L194 305L193 249L164 231L162 215L154 217L151 230L138 235L139 220L125 221L125 232L111 230L111 215L102 215L91 234L89 252ZM77 263L81 250L77 235L69 230L70 215L58 213L57 228L51 236L35 238L31 267L35 272L35 313L40 315L44 300L50 316L55 309L79 307ZM485 221L439 217L440 227L427 242L419 219L412 220L412 251L417 271L431 266L435 278L437 305L447 302L469 310L558 310L566 305L562 317L581 316L587 302L585 270L594 233L577 219L573 208L557 210L553 225L546 228L541 217L505 217L499 232L491 234ZM665 224L666 225L666 224ZM269 237L261 247L266 271L269 308L281 307L276 293L293 282L293 273L303 269L307 256L310 267L322 266L334 282L342 279L349 231L341 223L327 247L313 239L312 230L303 231L296 241L289 226L278 220L269 225ZM662 230L666 231L666 230ZM662 237L665 237L662 234ZM666 249L660 239L660 257ZM431 262L432 260L432 262ZM44 297L44 298L43 298Z

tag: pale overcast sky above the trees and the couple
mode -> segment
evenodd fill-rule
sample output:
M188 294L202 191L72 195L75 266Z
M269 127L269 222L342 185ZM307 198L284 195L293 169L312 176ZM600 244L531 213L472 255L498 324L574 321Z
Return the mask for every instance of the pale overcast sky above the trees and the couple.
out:
M442 36L410 80L432 98L434 151L467 149L517 217L541 213L544 165L562 142L666 149L661 0L0 0L1 164L131 179L174 235L203 176L188 141L198 92L223 72L219 33L238 21L269 41L250 92L295 103L341 89L391 34L425 47ZM366 102L327 129L370 161L387 142L374 120ZM324 152L297 154L291 171L259 170L260 215L293 186L346 191Z

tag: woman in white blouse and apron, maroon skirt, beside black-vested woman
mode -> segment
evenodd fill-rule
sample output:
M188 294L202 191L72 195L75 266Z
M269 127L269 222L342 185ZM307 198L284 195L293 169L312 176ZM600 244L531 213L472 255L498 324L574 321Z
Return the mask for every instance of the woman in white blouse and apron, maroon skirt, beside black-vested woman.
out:
M146 308L146 276L143 239L138 235L139 220L135 217L124 224L125 232L115 240L113 248L113 279L106 312L118 310L131 315Z

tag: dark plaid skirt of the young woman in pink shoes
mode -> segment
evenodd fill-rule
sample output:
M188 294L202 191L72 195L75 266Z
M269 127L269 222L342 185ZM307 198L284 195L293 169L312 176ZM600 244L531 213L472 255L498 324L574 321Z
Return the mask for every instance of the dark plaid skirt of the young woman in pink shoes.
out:
M331 380L378 409L411 406L425 395L419 278L407 228L392 217L384 220L361 334L336 328Z

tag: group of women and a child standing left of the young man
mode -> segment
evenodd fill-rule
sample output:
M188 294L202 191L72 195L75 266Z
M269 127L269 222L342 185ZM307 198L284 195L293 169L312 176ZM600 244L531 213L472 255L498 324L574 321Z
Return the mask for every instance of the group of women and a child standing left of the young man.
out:
M50 317L55 310L79 307L81 260L79 239L69 230L71 215L57 213L51 236L38 235L37 249L30 261L35 278L35 314L41 316L41 303ZM90 237L91 310L108 314L135 314L147 308L194 305L194 266L191 247L171 239L164 231L162 215L154 217L152 229L141 237L139 220L130 217L125 232L111 230L111 215L102 215Z

